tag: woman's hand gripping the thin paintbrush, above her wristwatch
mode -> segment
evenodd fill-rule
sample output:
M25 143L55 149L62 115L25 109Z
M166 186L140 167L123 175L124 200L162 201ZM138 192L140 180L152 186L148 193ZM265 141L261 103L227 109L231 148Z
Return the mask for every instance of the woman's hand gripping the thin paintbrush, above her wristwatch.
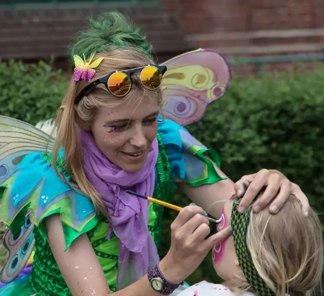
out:
M206 238L211 230L205 211L197 206L181 210L171 224L171 246L160 262L160 270L175 284L184 281L206 257L208 252L231 235L228 227Z

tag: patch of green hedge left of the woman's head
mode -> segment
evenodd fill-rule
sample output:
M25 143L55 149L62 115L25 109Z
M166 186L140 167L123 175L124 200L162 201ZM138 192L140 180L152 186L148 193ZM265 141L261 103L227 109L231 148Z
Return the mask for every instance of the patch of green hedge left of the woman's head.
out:
M31 124L52 118L62 102L67 77L50 63L0 63L0 115Z

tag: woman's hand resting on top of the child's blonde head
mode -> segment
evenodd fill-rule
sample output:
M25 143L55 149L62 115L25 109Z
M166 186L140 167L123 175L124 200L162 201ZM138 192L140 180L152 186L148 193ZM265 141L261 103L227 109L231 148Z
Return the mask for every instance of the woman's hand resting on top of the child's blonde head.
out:
M257 213L269 206L269 211L275 214L293 194L300 200L305 215L308 215L310 207L308 198L299 186L290 182L280 172L266 169L262 169L256 174L243 176L234 184L236 195L242 198L238 211L244 212L262 188L265 188L265 192L254 202L254 212Z

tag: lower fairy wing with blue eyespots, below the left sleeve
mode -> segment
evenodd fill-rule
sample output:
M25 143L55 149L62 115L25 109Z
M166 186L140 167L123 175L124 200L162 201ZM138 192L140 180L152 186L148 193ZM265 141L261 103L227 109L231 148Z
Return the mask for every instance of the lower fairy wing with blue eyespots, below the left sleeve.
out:
M31 224L27 213L25 224L16 233L12 233L9 229L5 233L3 244L9 254L0 273L0 280L3 283L13 281L28 262L35 245L33 230L34 225Z

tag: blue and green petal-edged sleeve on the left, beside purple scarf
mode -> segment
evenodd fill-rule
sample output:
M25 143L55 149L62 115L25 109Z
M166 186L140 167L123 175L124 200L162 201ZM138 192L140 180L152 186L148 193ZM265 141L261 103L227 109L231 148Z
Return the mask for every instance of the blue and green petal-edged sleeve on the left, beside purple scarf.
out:
M59 214L67 249L75 238L97 224L92 202L57 176L46 154L35 152L25 156L1 184L0 198L1 217L12 233L24 225L29 212L31 223L46 239L43 219Z

